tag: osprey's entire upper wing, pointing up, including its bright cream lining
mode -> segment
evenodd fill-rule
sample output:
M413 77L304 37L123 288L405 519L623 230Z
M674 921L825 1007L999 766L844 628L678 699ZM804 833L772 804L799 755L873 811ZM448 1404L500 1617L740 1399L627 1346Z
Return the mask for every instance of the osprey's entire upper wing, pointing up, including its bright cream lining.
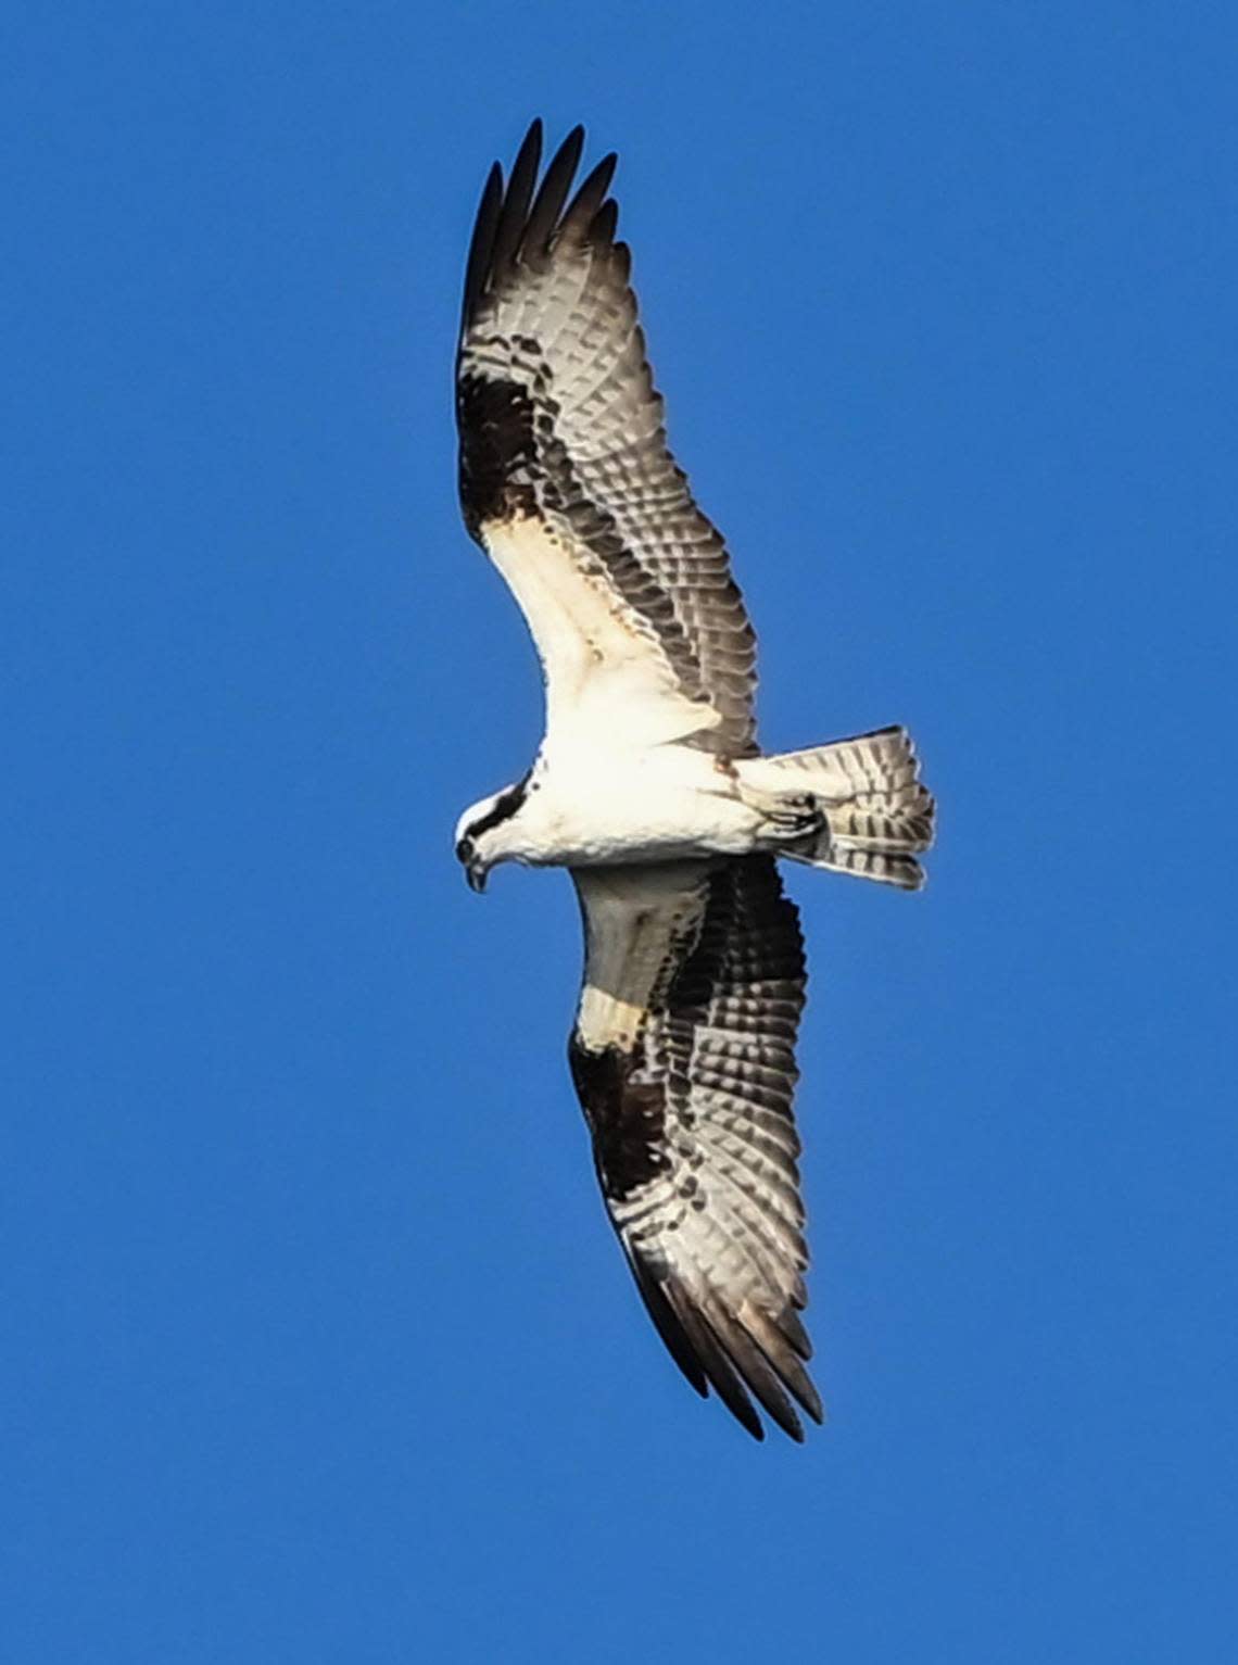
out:
M534 122L486 181L456 366L464 521L527 619L547 733L754 749L755 643L717 529L666 445L614 157L569 201L576 128L541 185ZM616 729L621 731L616 736Z

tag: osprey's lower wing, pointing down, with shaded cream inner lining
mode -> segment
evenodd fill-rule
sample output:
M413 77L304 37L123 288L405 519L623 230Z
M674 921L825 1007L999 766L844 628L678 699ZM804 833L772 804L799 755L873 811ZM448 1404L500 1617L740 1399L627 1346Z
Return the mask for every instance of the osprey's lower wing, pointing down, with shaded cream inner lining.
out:
M606 1207L699 1394L757 1439L820 1420L792 1121L799 914L767 856L572 872L586 967L569 1042ZM790 1397L789 1397L790 1395Z

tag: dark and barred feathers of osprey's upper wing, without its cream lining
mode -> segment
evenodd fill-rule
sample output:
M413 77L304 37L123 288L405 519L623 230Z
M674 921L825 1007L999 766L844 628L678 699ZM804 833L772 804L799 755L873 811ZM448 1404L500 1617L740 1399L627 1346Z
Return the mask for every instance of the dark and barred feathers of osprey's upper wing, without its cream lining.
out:
M537 516L664 653L682 693L719 713L701 744L754 751L755 641L725 546L666 445L607 196L614 157L569 201L584 133L541 186L541 123L491 170L464 280L456 376L464 521ZM566 206L564 206L566 205Z

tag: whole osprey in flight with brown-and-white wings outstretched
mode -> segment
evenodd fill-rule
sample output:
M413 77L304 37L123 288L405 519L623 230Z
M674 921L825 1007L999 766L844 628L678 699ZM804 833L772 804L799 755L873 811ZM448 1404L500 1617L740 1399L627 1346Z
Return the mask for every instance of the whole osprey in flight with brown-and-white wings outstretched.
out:
M792 1439L809 1380L792 1121L804 942L777 861L917 889L933 801L900 728L757 748L755 641L662 426L607 195L576 128L494 163L464 278L459 495L546 681L529 773L456 856L567 867L584 922L569 1041L606 1207L662 1340L744 1427Z

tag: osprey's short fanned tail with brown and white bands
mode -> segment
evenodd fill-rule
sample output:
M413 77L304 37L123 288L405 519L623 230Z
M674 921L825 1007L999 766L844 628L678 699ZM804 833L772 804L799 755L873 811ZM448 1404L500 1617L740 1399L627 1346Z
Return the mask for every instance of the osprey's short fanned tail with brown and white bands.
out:
M935 806L920 784L907 729L877 729L807 751L749 758L737 768L740 789L762 798L812 799L820 811L815 829L790 837L780 856L904 891L924 884L915 857L933 841Z

